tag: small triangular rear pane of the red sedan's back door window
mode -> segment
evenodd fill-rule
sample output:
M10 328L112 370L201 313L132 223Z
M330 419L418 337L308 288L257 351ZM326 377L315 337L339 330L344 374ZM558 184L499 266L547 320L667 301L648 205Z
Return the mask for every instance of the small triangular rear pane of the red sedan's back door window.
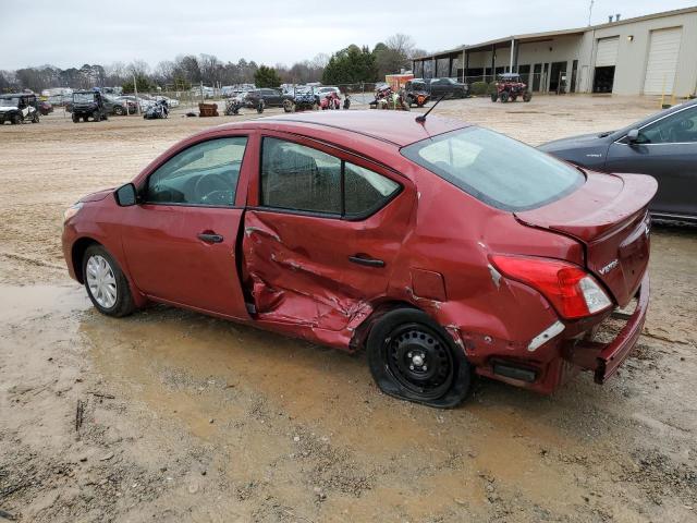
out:
M377 172L345 162L344 194L346 216L365 215L382 206L400 184Z

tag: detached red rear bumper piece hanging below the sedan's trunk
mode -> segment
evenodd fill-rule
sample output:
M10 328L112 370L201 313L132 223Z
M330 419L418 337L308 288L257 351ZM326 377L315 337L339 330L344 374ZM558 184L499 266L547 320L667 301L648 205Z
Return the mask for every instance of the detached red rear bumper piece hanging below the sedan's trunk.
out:
M636 309L626 325L609 343L583 340L563 350L564 358L586 370L592 370L596 384L603 384L612 376L636 345L649 307L649 275L641 280Z

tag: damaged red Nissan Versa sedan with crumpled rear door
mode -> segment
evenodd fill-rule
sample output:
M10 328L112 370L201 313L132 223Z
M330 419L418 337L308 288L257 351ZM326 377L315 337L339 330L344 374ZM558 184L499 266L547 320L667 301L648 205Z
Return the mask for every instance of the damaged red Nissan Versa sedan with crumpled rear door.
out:
M293 114L204 131L84 197L63 251L103 314L159 302L365 348L386 393L443 408L474 373L545 393L614 373L646 317L656 188L458 121Z

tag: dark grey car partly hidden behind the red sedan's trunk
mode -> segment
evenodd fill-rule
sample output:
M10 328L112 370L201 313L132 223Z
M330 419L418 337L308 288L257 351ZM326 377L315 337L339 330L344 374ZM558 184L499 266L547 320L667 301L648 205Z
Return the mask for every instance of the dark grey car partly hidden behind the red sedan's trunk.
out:
M619 131L549 142L540 149L589 169L650 174L657 218L697 222L697 100Z

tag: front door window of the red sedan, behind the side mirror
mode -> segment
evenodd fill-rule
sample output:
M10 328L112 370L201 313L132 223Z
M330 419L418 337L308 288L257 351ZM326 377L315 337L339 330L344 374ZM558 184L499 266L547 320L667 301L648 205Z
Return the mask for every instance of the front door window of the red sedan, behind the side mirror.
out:
M146 200L232 207L246 145L245 136L236 136L184 149L150 174Z

